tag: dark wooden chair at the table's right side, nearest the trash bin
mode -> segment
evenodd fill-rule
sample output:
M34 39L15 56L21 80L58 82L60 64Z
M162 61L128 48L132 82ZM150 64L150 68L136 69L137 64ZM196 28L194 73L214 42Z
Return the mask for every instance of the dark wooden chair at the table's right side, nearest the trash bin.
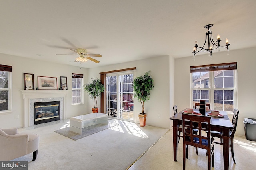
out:
M232 119L232 125L234 126L234 129L230 129L230 150L231 150L231 154L232 154L232 158L233 158L233 161L234 163L236 163L235 161L235 157L234 157L234 135L235 135L235 132L236 132L236 126L237 126L237 118L238 118L238 115L239 115L239 110L238 109L234 109L233 111L233 119ZM220 132L216 132L216 131L211 131L211 136L212 137L217 137L217 138L220 138L220 143L219 142L215 142L217 144L220 144L220 145L223 145L223 139L222 139L222 133ZM207 156L207 154L206 154Z

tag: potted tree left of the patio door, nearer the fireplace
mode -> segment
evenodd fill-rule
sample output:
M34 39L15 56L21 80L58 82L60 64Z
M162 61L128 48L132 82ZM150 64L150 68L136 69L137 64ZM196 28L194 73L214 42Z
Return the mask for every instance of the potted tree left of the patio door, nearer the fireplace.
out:
M93 105L94 107L92 108L92 113L97 113L98 112L98 107L97 107L97 98L100 96L101 92L104 92L104 86L100 82L100 79L94 79L92 78L91 83L84 84L84 91L89 93L89 96L92 100L94 100Z

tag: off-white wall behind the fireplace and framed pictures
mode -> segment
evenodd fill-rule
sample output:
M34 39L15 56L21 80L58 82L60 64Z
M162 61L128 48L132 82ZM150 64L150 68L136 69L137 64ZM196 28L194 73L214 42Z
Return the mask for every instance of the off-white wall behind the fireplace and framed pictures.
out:
M57 77L58 88L60 87L60 76L66 76L68 81L68 95L66 106L66 118L87 113L88 94L84 93L84 104L72 105L72 73L84 74L84 83L88 82L88 69L56 64L39 60L0 54L0 64L12 66L12 112L0 113L0 127L24 127L23 99L24 90L23 73L34 74L34 86L38 87L37 76ZM15 115L19 115L15 119Z

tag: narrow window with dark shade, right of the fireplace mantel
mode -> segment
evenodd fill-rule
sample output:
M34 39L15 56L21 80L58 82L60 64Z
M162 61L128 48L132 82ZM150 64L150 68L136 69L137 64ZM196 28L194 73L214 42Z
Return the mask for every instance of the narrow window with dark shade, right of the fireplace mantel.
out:
M72 104L83 104L83 74L72 74Z

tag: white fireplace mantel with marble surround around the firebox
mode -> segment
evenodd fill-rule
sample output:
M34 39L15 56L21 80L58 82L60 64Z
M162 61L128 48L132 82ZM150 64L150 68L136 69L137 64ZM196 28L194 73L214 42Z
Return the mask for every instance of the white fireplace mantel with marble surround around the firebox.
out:
M20 90L23 98L24 127L34 126L34 103L60 101L60 120L66 119L68 90Z

